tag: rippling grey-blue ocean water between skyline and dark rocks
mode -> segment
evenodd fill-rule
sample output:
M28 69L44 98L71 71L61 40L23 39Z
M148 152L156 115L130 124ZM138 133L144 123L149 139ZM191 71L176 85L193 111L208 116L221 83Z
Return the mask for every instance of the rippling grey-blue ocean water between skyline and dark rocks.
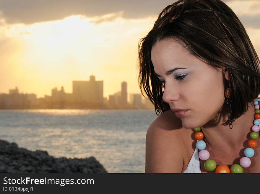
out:
M0 110L0 139L54 157L94 156L108 173L144 173L155 110Z

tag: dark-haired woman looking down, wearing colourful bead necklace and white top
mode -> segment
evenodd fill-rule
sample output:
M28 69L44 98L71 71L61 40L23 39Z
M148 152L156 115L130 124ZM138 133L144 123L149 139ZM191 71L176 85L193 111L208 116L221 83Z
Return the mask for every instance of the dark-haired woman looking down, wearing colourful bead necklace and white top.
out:
M260 173L259 64L222 1L165 7L139 42L139 86L160 113L147 130L145 172Z

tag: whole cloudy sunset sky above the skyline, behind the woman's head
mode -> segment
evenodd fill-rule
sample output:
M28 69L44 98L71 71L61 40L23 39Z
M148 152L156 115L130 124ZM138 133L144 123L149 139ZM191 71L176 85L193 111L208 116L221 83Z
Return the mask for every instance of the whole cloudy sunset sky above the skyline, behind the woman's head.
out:
M138 41L169 0L0 0L0 93L18 87L37 97L72 80L104 81L104 97L138 86ZM260 1L224 1L260 54Z

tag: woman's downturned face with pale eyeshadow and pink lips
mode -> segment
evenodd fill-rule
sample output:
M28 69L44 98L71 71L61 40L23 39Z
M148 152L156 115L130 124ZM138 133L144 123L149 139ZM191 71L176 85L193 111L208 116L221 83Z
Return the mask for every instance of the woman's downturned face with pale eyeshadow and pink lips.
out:
M184 128L193 129L213 120L222 108L226 75L189 54L185 46L178 40L158 41L151 60L158 78L165 81L163 101L171 109L188 110L179 118ZM180 69L166 73L174 68Z

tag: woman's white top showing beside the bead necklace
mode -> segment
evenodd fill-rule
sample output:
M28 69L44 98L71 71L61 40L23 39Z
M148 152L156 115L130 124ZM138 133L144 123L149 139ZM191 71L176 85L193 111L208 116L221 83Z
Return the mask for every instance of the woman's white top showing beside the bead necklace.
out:
M259 98L256 98L257 101L260 101ZM260 119L258 119L260 121ZM258 125L260 127L260 124ZM260 135L260 131L259 131ZM197 140L198 141L198 140ZM193 155L189 161L189 164L183 173L201 173L200 165L199 165L199 150L196 146Z

